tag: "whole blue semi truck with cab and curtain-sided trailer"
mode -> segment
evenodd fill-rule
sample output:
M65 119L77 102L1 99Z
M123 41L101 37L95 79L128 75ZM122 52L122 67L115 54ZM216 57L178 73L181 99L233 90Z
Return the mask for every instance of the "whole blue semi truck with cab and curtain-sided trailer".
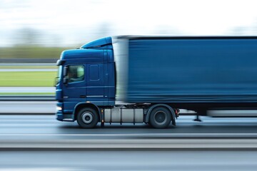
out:
M176 125L178 109L257 108L257 37L116 36L63 51L56 118Z

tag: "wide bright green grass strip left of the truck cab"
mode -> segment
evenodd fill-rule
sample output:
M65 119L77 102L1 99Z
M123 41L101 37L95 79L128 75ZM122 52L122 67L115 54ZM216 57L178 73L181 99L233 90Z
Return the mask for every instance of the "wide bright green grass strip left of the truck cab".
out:
M57 72L0 72L1 87L53 87Z

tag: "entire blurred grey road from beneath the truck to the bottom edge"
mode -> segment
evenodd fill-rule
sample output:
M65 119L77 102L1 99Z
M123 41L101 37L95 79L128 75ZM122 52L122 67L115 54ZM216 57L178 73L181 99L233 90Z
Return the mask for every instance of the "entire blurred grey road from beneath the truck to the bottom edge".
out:
M256 118L201 119L86 130L54 115L0 115L0 170L256 170Z

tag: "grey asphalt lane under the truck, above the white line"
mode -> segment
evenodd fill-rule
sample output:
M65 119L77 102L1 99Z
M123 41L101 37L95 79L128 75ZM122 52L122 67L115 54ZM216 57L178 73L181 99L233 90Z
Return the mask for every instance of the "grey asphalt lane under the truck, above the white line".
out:
M105 124L96 129L81 129L76 122L61 122L55 115L0 115L0 134L257 134L257 118L211 118L201 117L203 122L194 122L194 116L180 116L176 127L153 129L146 124ZM1 137L0 137L1 138Z

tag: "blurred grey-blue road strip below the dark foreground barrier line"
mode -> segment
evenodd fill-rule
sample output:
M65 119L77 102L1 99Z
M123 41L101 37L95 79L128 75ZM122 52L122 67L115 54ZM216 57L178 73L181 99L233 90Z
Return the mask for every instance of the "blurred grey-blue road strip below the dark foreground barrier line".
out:
M0 170L256 170L256 151L0 152Z

